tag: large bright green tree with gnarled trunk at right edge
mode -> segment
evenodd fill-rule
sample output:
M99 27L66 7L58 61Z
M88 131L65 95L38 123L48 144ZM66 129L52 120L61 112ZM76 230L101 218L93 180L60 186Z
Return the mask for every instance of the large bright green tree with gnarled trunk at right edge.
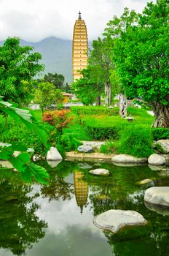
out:
M106 32L114 38L113 60L130 97L154 111L153 127L169 127L169 2L148 3L142 14L114 17Z

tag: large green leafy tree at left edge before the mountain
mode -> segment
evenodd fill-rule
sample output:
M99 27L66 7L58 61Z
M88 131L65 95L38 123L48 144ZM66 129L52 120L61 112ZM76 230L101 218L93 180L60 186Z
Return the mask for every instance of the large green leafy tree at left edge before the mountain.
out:
M40 53L21 46L19 38L8 38L0 47L0 91L5 101L22 106L34 91L34 76L44 69Z

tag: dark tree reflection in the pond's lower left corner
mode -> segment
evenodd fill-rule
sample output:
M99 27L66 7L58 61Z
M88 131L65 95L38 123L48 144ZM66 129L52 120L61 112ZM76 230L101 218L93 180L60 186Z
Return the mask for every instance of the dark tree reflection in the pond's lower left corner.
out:
M28 195L31 186L6 172L0 173L0 247L22 255L44 237L47 223L35 214L39 206L33 200L39 195Z

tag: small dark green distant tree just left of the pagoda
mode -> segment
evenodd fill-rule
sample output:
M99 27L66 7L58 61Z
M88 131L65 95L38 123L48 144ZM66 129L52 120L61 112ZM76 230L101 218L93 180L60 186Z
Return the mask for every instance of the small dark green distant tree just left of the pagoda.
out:
M52 83L56 89L63 89L64 80L64 76L57 73L48 73L47 75L44 75L44 81Z

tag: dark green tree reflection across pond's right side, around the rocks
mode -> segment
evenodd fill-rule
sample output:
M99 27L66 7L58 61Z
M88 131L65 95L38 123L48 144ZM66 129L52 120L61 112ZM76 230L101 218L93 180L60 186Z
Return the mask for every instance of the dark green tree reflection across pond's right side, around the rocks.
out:
M161 186L163 184L157 172L147 167L133 167L130 170L115 167L111 176L87 177L90 191L93 191L90 200L94 215L109 209L123 209L138 211L148 220L148 225L144 227L127 227L115 235L104 232L113 255L168 255L169 216L149 211L144 206L144 192L149 184L139 186L137 182L145 178L151 178Z

